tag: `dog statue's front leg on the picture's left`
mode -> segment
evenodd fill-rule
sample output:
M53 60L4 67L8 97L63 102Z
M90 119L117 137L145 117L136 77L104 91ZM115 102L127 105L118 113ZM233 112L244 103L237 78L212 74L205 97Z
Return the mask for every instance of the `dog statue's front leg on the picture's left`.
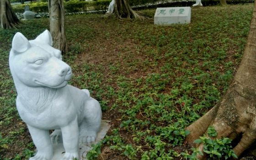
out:
M42 130L27 125L29 133L37 147L37 154L29 160L51 160L53 156L53 146L48 130Z

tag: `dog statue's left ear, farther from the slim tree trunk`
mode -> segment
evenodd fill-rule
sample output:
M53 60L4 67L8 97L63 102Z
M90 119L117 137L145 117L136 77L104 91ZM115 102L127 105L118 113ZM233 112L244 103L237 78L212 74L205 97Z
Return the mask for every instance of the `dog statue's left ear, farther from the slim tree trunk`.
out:
M20 32L17 32L12 39L12 49L21 53L27 51L28 48L30 48L30 43L27 38Z

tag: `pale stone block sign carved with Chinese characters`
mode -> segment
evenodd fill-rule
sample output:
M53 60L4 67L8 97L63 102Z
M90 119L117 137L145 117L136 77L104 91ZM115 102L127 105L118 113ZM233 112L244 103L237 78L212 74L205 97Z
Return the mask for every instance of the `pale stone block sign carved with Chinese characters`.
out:
M154 24L171 25L176 23L190 23L191 7L165 7L157 8Z

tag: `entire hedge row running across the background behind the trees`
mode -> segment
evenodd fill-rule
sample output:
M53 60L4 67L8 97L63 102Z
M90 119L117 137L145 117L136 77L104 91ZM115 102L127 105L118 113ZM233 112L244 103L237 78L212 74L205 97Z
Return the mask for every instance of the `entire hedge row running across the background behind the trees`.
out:
M128 0L131 6L135 6L136 8L144 8L145 6L141 6L143 4L151 4L151 6L159 7L159 6L167 6L166 4L162 4L164 2L168 2L169 0ZM191 6L195 3L196 0L172 0L168 6ZM64 8L67 13L73 12L81 12L81 11L106 11L108 5L111 0L94 0L94 1L82 1L82 0L69 0L64 1ZM227 0L228 4L237 4L237 3L251 3L254 0ZM202 0L203 5L216 5L219 4L219 0ZM23 13L26 5L29 5L30 11L34 11L36 13L48 12L48 3L47 2L33 2L23 5L13 5L13 9L15 12ZM150 6L146 6L150 7Z

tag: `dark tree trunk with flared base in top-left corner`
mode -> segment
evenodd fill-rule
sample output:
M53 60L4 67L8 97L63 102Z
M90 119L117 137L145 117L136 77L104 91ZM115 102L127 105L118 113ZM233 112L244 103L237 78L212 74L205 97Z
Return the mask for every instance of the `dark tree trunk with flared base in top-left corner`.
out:
M12 10L9 0L0 0L0 5L1 28L17 28L20 21Z

